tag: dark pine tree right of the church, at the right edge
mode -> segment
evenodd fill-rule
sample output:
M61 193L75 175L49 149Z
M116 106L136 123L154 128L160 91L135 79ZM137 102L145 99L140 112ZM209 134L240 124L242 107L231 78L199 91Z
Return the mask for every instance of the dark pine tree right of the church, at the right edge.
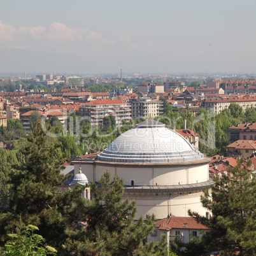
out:
M203 245L208 250L222 250L224 255L256 255L255 193L255 176L251 178L241 159L231 169L231 178L215 177L211 194L205 192L201 198L213 217L207 219L190 212L212 229L203 237Z

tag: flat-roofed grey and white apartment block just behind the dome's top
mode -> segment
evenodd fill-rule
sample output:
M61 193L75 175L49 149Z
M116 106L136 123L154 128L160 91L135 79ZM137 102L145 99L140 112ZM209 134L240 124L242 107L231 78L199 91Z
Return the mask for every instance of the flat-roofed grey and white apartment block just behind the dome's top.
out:
M163 103L162 101L153 101L148 97L140 97L130 101L133 118L153 118L162 115Z

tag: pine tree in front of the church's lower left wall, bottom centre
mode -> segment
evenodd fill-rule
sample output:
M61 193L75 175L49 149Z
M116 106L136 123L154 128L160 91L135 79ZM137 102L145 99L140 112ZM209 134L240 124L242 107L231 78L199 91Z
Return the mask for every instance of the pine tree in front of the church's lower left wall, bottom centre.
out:
M155 222L135 220L136 204L124 199L124 181L117 176L111 180L110 173L103 174L99 183L90 185L92 201L83 210L86 228L74 227L67 250L75 255L166 255L166 239L162 243L144 243L152 233ZM81 216L81 217L82 217ZM80 232L75 232L80 229Z

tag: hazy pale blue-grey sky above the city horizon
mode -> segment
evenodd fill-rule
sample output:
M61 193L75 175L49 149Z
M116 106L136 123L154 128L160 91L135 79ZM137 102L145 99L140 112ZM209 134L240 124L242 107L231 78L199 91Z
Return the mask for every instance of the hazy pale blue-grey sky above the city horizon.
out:
M0 73L256 73L255 0L1 0Z

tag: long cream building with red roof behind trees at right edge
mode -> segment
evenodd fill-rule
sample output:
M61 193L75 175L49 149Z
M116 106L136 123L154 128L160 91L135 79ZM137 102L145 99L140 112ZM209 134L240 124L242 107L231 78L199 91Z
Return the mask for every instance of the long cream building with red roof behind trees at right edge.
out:
M204 101L203 106L205 108L213 108L216 114L220 113L225 108L229 108L231 103L236 103L243 108L255 108L256 107L256 97L255 96L230 96L230 97L215 97L208 98Z

